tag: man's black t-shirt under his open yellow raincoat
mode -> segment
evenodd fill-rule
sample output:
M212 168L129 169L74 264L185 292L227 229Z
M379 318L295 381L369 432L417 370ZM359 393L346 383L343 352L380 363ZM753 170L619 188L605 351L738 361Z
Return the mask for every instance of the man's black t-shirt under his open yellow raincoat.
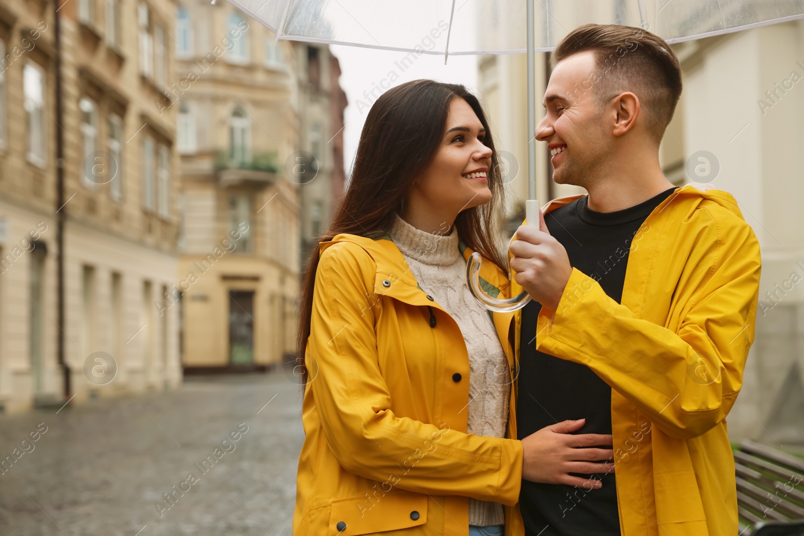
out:
M634 207L608 213L590 210L588 196L584 196L546 214L544 223L567 250L572 267L597 280L606 295L619 303L634 235L650 212L674 190L675 187ZM611 387L588 366L536 351L536 317L540 309L541 304L531 301L522 313L516 404L519 439L567 419L586 419L584 427L574 433L610 434ZM601 489L523 481L519 508L527 536L620 534L615 475L596 477L603 484Z

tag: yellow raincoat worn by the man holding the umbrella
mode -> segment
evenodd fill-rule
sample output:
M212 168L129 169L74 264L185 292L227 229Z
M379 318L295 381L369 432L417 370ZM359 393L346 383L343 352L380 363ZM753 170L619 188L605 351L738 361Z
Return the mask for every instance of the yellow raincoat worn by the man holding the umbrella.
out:
M589 366L612 387L624 536L735 536L726 415L754 340L757 237L731 194L683 186L626 247L621 304L573 268L555 318L539 313L536 348ZM520 320L517 313L517 355Z

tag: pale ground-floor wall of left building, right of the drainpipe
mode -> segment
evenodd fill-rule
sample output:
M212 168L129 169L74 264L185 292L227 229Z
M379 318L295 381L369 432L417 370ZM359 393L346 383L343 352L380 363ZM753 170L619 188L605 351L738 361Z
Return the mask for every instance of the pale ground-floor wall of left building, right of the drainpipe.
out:
M85 352L82 352L84 318L82 277L84 265L94 268L94 314L92 351L105 351L117 360L118 375L109 388L142 391L175 387L181 383L178 362L178 307L163 305L162 287L174 282L177 262L150 248L126 243L98 231L69 227L65 249L67 258L67 360L76 374L76 390L96 388L84 378ZM121 329L113 339L112 274L121 275ZM150 282L150 300L143 297ZM162 340L162 322L166 340Z

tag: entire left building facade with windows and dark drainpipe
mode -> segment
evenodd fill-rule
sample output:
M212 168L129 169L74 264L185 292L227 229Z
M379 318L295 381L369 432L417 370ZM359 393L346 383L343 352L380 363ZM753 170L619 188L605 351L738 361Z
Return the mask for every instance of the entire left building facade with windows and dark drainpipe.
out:
M5 411L181 381L174 10L0 0Z

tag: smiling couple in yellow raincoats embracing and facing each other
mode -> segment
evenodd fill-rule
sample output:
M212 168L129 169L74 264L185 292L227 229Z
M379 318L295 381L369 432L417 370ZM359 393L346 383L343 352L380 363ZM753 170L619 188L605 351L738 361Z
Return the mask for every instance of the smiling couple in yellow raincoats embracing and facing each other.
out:
M662 175L679 62L634 30L556 48L535 136L589 194L544 206L508 259L478 100L416 80L372 106L302 286L295 536L737 533L725 417L759 244L730 194ZM487 293L533 300L483 309L472 252Z

